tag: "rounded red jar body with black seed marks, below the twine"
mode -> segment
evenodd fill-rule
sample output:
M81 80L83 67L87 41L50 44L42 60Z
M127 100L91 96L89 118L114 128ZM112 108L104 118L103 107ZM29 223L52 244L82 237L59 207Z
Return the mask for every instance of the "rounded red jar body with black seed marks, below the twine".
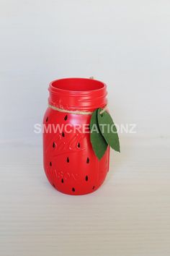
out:
M61 102L62 95L61 98L57 96L57 99L58 97ZM99 105L97 108L103 103ZM58 106L58 103L55 106ZM61 108L66 112L50 107L45 112L43 119L44 169L50 184L58 191L69 195L84 195L94 192L104 182L109 170L109 147L99 160L90 141L91 114L67 113L71 108L72 105L69 106L67 100L67 106L62 105ZM83 106L81 111L84 108ZM78 109L77 106L76 109ZM94 110L94 107L90 107L90 110L92 109Z

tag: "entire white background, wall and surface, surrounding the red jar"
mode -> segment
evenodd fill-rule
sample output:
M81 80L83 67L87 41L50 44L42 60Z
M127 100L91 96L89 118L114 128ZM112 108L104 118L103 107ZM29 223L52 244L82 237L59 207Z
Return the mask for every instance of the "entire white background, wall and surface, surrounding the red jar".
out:
M1 255L169 255L170 1L0 1ZM42 170L48 83L107 83L122 153L94 194Z

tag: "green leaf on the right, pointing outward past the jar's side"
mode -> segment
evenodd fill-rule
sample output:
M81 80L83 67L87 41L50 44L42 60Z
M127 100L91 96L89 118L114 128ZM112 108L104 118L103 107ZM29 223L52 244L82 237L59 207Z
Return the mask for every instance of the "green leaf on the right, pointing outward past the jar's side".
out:
M107 141L107 144L109 144L109 146L114 150L120 152L120 141L112 117L107 111L104 111L102 114L100 114L101 111L102 108L98 108L97 120L100 132L102 133L104 139Z

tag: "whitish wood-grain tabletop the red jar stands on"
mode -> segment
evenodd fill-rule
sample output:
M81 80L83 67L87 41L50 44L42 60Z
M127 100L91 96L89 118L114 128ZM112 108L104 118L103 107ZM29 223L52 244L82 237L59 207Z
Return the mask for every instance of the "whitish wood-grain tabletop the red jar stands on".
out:
M57 192L42 150L0 151L0 255L170 255L169 141L124 139L103 186L90 195Z

